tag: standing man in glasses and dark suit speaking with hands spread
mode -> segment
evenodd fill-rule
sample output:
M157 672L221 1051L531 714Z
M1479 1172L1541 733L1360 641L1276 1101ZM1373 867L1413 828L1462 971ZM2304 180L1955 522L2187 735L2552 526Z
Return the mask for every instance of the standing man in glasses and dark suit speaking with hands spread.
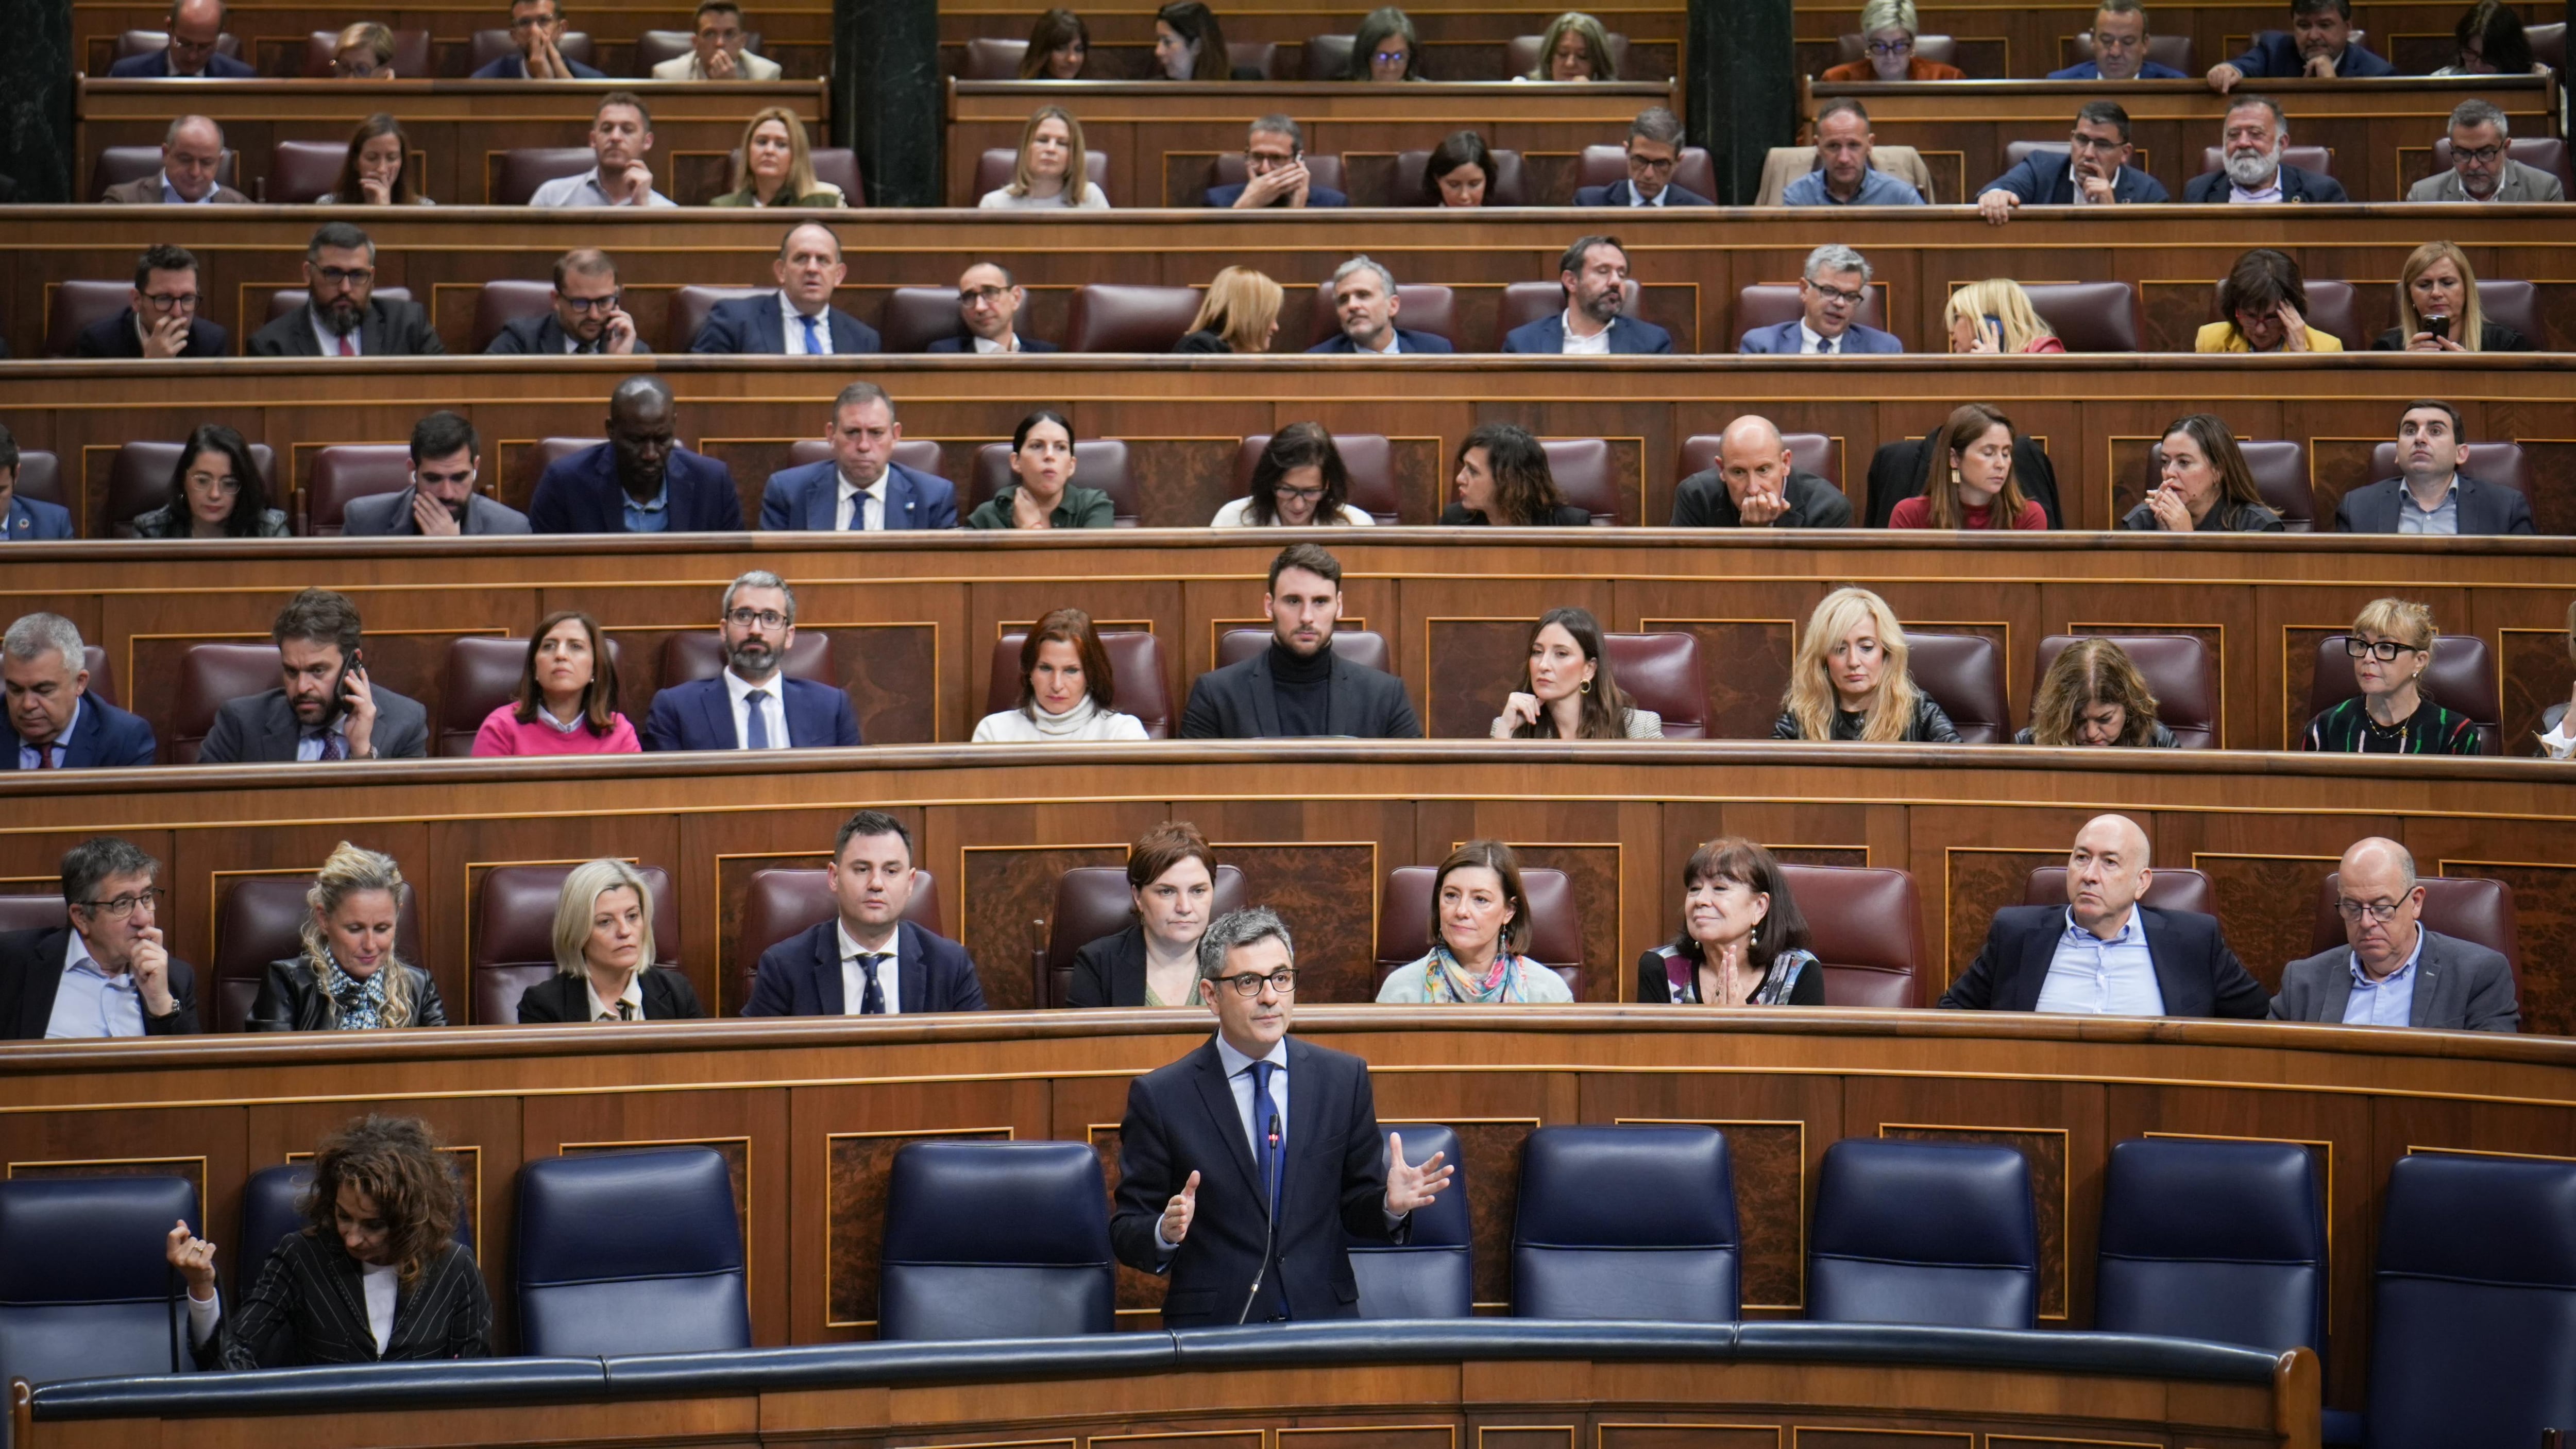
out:
M1216 1035L1128 1086L1118 1261L1172 1277L1164 1328L1358 1318L1345 1243L1404 1241L1453 1168L1378 1138L1368 1063L1288 1040L1296 947L1275 911L1208 924L1198 996Z

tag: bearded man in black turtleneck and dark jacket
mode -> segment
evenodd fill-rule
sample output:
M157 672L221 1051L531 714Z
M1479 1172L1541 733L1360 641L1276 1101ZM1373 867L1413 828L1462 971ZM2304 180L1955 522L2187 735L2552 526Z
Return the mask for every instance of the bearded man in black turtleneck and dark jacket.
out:
M1324 546L1280 548L1262 607L1270 649L1200 674L1180 715L1180 739L1422 739L1401 679L1332 651L1342 561Z

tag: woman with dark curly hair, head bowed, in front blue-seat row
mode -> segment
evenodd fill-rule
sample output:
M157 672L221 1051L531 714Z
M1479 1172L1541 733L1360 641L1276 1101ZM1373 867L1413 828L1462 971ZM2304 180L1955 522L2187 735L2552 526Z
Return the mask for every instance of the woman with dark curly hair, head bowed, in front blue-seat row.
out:
M325 1138L301 1210L240 1313L214 1289L214 1243L170 1230L201 1369L492 1354L492 1297L456 1243L464 1194L428 1122L361 1117Z

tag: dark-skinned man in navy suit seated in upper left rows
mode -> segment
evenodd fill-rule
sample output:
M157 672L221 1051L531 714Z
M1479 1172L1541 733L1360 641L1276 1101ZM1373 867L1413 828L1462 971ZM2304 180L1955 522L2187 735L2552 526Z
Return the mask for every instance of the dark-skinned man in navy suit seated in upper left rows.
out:
M536 533L739 533L724 463L680 448L680 404L662 378L608 394L608 443L559 458L528 502Z

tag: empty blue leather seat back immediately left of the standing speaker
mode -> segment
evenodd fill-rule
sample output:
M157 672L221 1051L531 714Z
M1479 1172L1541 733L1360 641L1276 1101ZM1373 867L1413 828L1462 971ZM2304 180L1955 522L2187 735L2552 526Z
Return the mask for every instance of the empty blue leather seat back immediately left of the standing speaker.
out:
M1118 1328L1108 1181L1090 1143L909 1143L886 1184L878 1338Z

